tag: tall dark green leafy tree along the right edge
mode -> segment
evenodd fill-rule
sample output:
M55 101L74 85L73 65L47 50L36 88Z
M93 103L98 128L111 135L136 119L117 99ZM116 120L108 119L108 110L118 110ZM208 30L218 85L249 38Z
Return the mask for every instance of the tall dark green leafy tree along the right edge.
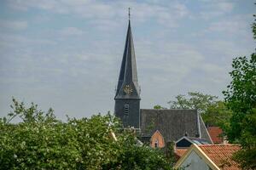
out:
M252 27L256 39L255 22ZM256 169L256 54L233 59L232 67L232 81L223 92L232 111L230 126L225 131L230 142L241 144L236 161L244 169Z

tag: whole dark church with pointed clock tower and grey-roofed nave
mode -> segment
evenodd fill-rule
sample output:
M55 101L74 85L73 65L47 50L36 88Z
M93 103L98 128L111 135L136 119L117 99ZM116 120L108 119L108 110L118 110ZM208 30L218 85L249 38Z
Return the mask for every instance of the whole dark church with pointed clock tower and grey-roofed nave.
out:
M183 136L205 139L212 144L207 127L196 110L141 109L140 92L129 17L125 50L114 97L115 116L120 118L124 127L136 128L140 132L140 139L152 147L163 148L169 142L175 142Z

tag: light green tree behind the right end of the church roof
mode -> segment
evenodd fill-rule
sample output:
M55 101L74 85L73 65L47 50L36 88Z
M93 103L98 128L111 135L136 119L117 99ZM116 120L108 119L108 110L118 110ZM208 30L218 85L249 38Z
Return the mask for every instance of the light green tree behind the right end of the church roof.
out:
M179 94L176 100L169 101L171 109L196 109L209 126L224 127L230 119L230 110L217 96L189 92L188 96Z

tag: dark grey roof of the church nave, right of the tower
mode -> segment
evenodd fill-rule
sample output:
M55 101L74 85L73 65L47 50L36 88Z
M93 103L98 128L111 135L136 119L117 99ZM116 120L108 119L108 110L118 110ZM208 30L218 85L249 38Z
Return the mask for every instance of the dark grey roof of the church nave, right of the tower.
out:
M207 128L196 110L142 109L140 123L142 137L152 136L159 130L166 142L177 141L187 134L189 137L206 139L212 144Z

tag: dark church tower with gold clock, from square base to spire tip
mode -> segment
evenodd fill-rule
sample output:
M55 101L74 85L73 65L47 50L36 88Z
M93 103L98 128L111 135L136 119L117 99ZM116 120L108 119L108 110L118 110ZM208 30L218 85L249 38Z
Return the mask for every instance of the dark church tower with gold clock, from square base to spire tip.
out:
M119 73L119 82L114 97L114 114L123 122L124 127L140 127L140 87L137 79L137 66L129 24L125 41L125 51Z

